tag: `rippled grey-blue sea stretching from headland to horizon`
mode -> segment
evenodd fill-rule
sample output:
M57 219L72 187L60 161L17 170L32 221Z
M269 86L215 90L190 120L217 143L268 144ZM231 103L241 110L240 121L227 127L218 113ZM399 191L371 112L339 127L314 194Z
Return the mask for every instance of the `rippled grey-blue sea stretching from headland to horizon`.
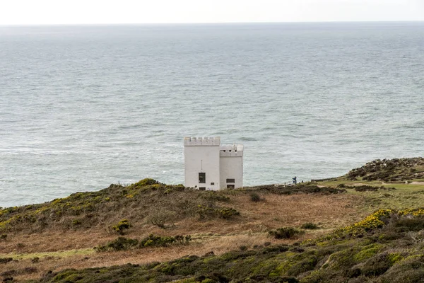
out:
M0 207L184 182L184 136L245 185L423 156L424 23L0 27Z

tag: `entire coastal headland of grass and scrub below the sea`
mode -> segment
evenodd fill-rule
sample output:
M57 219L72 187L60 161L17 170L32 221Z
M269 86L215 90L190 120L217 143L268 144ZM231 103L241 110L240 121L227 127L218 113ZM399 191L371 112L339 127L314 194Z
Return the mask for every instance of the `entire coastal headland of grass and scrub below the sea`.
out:
M144 179L1 209L0 278L396 282L401 277L391 274L399 268L416 278L413 269L423 263L423 164L372 161L297 187L220 192ZM384 268L367 271L377 261Z

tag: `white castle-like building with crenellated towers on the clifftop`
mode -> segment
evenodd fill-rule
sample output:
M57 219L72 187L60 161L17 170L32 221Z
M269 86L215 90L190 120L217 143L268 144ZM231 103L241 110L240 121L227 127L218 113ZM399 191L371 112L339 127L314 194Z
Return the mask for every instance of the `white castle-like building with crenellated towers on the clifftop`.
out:
M221 146L220 137L184 137L184 185L199 190L242 187L242 144Z

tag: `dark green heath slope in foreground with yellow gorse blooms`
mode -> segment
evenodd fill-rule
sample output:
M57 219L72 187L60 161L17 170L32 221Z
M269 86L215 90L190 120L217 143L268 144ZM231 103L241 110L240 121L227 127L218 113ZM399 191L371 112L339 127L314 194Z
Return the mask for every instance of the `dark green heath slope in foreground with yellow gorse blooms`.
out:
M298 246L50 273L40 282L423 282L424 209L382 210Z

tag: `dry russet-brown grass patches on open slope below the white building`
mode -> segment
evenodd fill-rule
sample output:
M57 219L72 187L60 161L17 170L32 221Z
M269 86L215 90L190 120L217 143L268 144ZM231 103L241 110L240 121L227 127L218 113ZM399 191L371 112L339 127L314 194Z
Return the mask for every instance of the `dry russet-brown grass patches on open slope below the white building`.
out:
M237 250L240 246L254 248L263 246L265 242L291 243L312 238L317 234L325 233L328 229L344 226L358 221L366 212L359 212L358 204L362 202L360 196L339 195L274 195L259 193L261 202L252 202L247 194L230 195L231 201L226 204L240 211L240 216L234 219L184 219L175 223L172 229L160 229L146 222L135 222L126 233L128 238L142 238L149 233L160 235L187 235L193 236L188 246L173 246L168 248L145 248L139 250L122 251L115 253L90 253L89 255L72 255L61 257L40 258L40 262L33 263L30 259L9 262L0 265L2 272L25 270L25 267L36 267L37 272L18 274L13 277L18 280L35 279L49 270L54 272L66 268L102 267L122 265L125 263L142 264L146 262L172 260L184 255L204 255L213 251L216 255ZM266 233L271 229L282 226L300 226L305 222L318 224L324 229L307 231L298 240L275 240ZM45 231L42 233L26 234L24 231L8 234L7 241L0 242L0 258L20 254L37 252L54 252L57 250L72 250L93 248L117 238L107 227L102 229ZM18 248L18 243L23 247ZM28 255L30 256L30 255Z

